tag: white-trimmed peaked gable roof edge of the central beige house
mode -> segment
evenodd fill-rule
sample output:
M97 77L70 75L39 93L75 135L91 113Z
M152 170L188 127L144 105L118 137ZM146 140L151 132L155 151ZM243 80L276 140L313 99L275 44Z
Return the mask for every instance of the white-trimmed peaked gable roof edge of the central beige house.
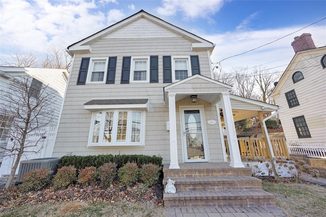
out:
M69 45L66 49L66 51L72 56L74 53L77 53L77 52L91 52L92 51L92 48L90 46L91 43L117 31L118 29L126 26L126 25L129 25L130 23L134 22L134 21L137 21L141 18L145 18L163 28L166 28L167 30L169 30L170 32L174 33L174 34L177 34L179 36L182 36L184 37L185 39L188 39L189 41L192 41L193 44L192 44L192 50L202 50L202 49L205 49L205 50L209 50L210 52L213 51L214 49L214 44L199 37L199 36L196 36L192 33L189 33L187 32L186 30L184 29L181 29L171 23L168 23L158 17L155 17L147 12L145 12L144 10L141 10L139 11L138 13L135 13L111 26L108 26L102 30L100 30L99 32L85 38L85 39L82 39L72 45Z

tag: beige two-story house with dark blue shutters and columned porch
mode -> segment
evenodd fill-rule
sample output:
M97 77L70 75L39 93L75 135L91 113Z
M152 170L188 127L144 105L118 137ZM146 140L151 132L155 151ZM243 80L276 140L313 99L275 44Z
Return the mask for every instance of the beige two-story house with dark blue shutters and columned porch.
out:
M243 167L234 120L278 107L230 96L231 86L212 79L213 49L145 11L70 45L73 65L52 157L156 155L170 168L226 162L222 110L231 166ZM247 108L232 114L233 102Z

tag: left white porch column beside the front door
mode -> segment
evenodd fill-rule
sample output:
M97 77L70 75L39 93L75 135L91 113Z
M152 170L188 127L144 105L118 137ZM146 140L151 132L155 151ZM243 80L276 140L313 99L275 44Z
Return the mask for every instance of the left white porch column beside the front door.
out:
M175 111L175 95L169 96L169 121L170 121L170 167L169 169L180 169L178 164L178 146L177 146L177 120Z

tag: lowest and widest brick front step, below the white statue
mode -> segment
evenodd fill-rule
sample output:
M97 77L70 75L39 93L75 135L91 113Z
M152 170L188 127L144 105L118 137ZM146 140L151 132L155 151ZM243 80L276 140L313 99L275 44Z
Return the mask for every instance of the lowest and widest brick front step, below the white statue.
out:
M164 193L165 207L275 206L275 196L263 190L188 191Z

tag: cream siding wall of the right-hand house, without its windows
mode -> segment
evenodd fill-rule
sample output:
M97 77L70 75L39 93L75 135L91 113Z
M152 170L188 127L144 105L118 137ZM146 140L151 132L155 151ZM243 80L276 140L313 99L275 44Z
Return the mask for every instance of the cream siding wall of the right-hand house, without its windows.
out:
M320 65L325 52L326 48L298 53L284 74L285 81L275 101L282 107L279 115L287 141L326 143L326 69ZM293 84L292 75L296 71L301 71L304 79ZM289 108L285 92L292 89L300 105ZM297 136L292 118L301 115L305 116L311 138Z

